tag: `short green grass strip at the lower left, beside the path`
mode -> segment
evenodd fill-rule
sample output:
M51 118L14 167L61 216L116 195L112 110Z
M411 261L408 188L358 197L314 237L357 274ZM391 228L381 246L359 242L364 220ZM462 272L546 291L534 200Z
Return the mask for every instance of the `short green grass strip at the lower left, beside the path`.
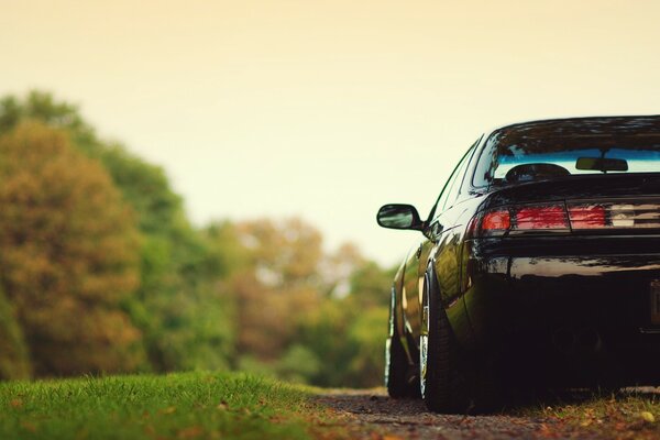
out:
M323 427L323 409L308 397L304 388L229 373L0 383L0 439L341 437Z

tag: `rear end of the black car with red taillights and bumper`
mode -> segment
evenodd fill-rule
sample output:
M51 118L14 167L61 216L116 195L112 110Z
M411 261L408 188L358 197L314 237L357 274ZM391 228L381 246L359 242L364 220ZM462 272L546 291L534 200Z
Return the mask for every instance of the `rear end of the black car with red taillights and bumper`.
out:
M461 277L480 362L535 384L660 384L660 162L645 165L658 173L485 195Z

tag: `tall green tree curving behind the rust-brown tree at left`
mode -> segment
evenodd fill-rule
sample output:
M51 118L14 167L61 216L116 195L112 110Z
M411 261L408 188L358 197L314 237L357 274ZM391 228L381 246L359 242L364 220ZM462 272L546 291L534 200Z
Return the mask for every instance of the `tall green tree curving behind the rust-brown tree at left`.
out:
M0 100L0 131L25 120L67 131L78 151L100 161L133 209L143 237L140 283L122 306L143 333L152 367L227 366L232 326L227 295L218 286L227 271L209 254L206 238L190 226L163 168L119 143L99 139L76 106L51 94L31 91ZM213 252L219 245L213 243Z

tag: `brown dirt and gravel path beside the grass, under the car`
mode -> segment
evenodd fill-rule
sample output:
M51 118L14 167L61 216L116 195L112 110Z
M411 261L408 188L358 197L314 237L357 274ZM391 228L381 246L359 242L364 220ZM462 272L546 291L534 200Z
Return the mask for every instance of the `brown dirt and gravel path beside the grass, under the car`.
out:
M392 399L384 389L337 389L318 396L346 425L351 437L370 440L588 439L550 419L507 415L429 413L421 400Z

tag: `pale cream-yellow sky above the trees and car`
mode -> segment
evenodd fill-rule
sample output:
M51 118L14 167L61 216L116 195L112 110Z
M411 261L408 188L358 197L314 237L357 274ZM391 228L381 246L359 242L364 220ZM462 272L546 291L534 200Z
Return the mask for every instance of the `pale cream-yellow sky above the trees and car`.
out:
M0 95L52 91L195 224L301 217L396 264L485 131L660 113L660 1L0 0Z

